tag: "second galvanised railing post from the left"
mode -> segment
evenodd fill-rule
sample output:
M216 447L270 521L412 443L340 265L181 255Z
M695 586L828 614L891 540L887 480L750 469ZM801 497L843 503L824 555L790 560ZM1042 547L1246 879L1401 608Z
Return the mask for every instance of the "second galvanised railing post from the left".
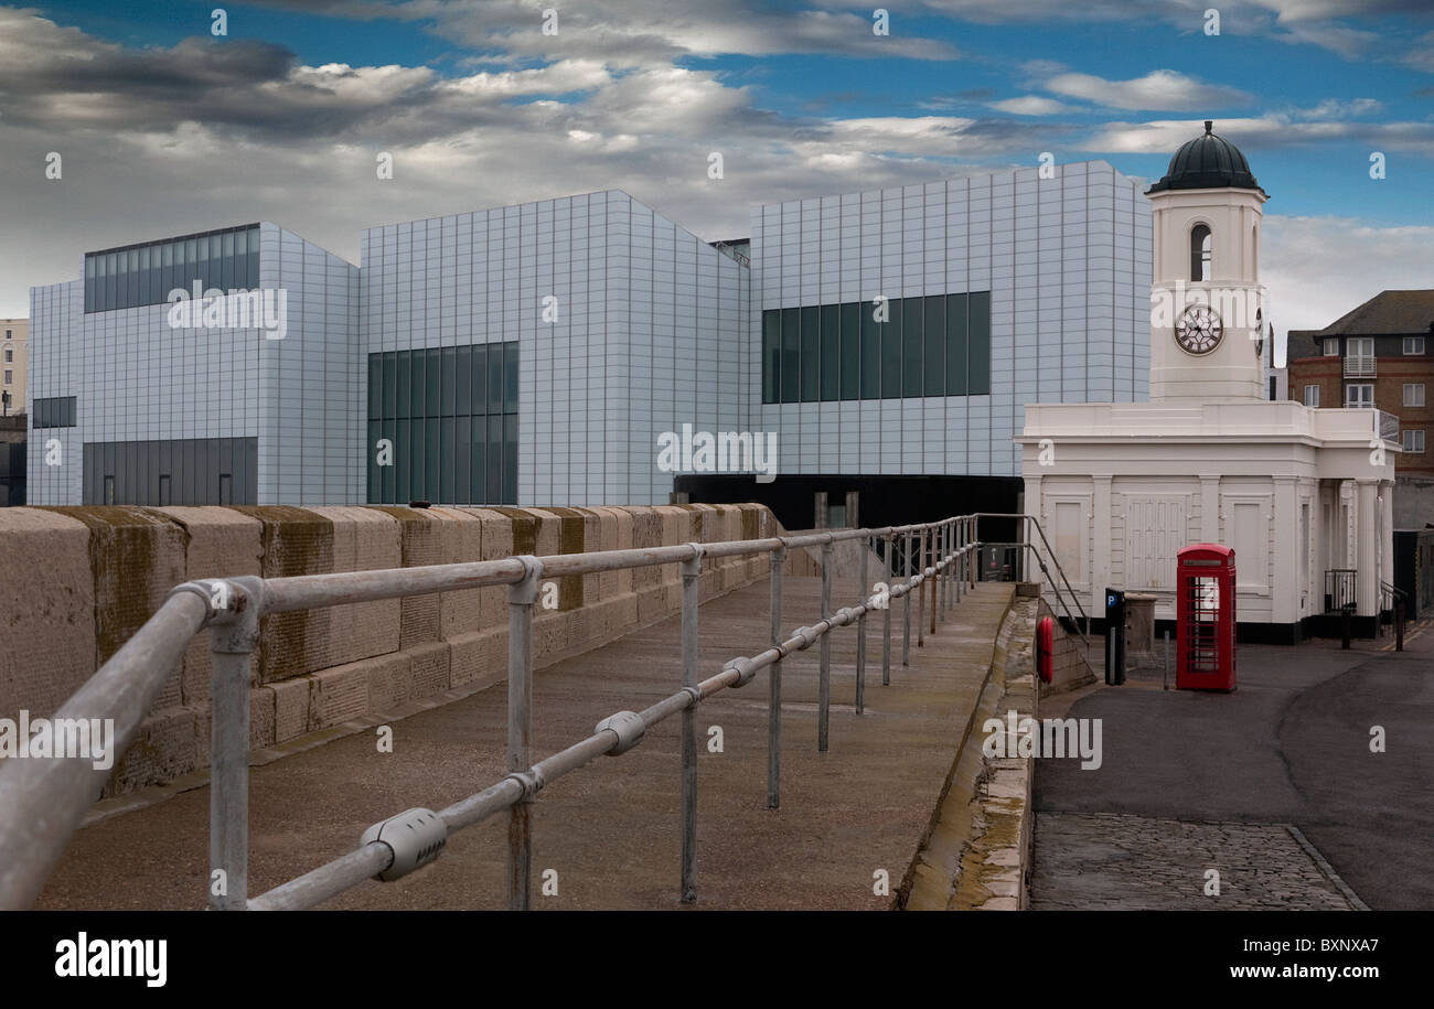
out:
M526 774L533 741L533 603L542 562L518 558L523 579L508 586L508 773ZM532 897L532 795L508 810L508 910L525 912Z

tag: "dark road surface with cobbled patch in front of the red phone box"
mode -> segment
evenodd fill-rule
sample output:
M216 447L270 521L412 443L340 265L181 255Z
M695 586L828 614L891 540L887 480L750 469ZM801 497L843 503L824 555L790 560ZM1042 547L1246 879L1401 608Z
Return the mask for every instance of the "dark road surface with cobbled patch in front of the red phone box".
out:
M1242 645L1233 694L1164 691L1154 669L1043 701L1101 719L1104 754L1038 761L1032 907L1434 909L1431 623L1404 652Z

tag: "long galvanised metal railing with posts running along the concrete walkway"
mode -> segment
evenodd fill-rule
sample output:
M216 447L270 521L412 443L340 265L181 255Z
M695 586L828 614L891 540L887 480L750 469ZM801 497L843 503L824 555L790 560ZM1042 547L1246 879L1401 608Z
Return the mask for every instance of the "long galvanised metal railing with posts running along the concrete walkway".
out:
M909 665L913 593L918 646L923 641L926 601L929 628L944 619L975 586L977 526L981 516L954 516L939 522L882 529L817 532L721 543L518 556L503 560L301 575L261 579L254 576L202 579L176 586L145 625L76 691L54 718L112 718L113 760L139 732L145 714L178 666L189 639L211 631L212 735L209 748L209 907L214 910L294 910L314 907L371 879L397 879L433 861L447 837L508 811L508 904L529 906L532 827L529 807L543 785L584 764L622 754L642 741L652 725L683 715L683 853L681 899L695 899L697 851L697 727L694 709L708 697L749 684L769 669L767 805L780 804L782 661L820 645L817 748L829 745L830 632L856 623L856 711L865 711L866 616L882 612L882 684L891 684L891 601L905 599L902 612L902 665ZM985 517L1030 519L1031 516ZM1037 529L1040 525L1037 523ZM1044 533L1041 533L1044 540ZM863 543L859 580L862 602L832 609L833 545ZM915 556L919 570L893 582L892 556L901 540L902 556ZM885 582L869 579L872 546L885 546ZM822 547L822 619L783 638L782 583L786 553L792 547ZM913 547L913 549L912 549ZM698 579L707 558L769 555L770 648L730 659L718 674L698 679L697 615ZM592 575L657 565L681 565L681 682L680 691L641 712L619 711L605 718L591 735L541 761L532 760L533 606L542 579ZM1043 563L1044 569L1044 563ZM1064 575L1063 575L1064 579ZM931 590L928 592L928 582ZM399 599L430 592L482 586L508 586L508 775L479 793L433 813L414 808L374 824L360 847L257 897L248 896L248 794L250 794L250 666L260 638L260 619L271 613L336 606L379 599ZM1068 588L1068 585L1067 585ZM873 592L869 592L875 589ZM1077 601L1078 605L1078 601ZM96 761L63 757L0 761L0 909L23 909L39 894L65 846L109 777ZM106 765L108 768L108 765ZM222 880L222 886L217 883Z

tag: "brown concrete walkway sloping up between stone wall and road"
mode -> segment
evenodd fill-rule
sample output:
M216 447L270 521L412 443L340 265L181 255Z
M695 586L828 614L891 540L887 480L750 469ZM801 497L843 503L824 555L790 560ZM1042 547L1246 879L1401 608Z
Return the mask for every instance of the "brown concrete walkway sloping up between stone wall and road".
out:
M784 623L817 619L820 582L787 578ZM975 704L1012 586L965 596L901 666L902 602L892 609L892 685L880 685L880 616L869 621L866 714L855 712L855 628L832 648L830 751L816 751L817 649L784 664L782 808L766 808L767 675L697 709L697 907L886 909L928 828ZM710 675L767 639L766 582L701 609ZM837 579L836 605L859 596ZM915 621L915 603L913 621ZM538 672L535 750L582 738L608 714L641 709L681 682L678 622L665 621ZM371 731L257 767L251 777L250 891L261 893L350 851L366 827L413 805L442 808L505 773L506 689L393 722L394 750ZM678 907L678 727L551 784L533 814L538 909ZM723 751L708 751L720 727ZM82 830L50 877L42 909L198 909L208 879L208 788ZM366 883L333 909L502 909L506 816L449 838L435 863L394 883ZM543 873L556 896L541 896Z

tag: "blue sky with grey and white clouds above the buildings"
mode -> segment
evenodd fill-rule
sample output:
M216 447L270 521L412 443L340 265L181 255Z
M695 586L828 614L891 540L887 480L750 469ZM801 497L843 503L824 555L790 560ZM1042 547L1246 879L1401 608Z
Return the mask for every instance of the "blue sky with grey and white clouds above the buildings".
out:
M364 226L618 188L741 238L1047 152L1154 181L1205 119L1271 195L1281 335L1434 287L1431 0L221 3L0 6L0 317L85 251L260 219L358 262Z

